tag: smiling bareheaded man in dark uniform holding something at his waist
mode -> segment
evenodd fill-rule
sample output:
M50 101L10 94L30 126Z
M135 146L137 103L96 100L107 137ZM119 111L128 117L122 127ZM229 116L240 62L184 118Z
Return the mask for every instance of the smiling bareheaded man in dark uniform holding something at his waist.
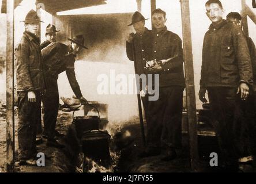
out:
M162 147L165 150L162 160L167 161L175 159L176 149L182 147L185 78L182 40L177 34L167 30L165 16L165 11L161 9L152 12L154 64L150 71L159 75L159 99L149 101L148 145L141 156L159 155Z

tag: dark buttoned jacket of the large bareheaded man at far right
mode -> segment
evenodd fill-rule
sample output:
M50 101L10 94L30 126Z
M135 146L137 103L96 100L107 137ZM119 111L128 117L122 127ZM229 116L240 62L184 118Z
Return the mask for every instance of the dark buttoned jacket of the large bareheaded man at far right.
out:
M253 71L242 30L226 20L211 24L202 51L201 88L238 87L253 83Z

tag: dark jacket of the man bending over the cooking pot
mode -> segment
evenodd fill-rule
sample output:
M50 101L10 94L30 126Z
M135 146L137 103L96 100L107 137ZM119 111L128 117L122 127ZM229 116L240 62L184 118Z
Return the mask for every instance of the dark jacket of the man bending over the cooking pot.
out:
M58 78L58 75L66 71L67 79L76 97L81 98L82 93L74 71L75 55L71 45L62 43L51 43L42 50L43 61L46 65L46 75Z

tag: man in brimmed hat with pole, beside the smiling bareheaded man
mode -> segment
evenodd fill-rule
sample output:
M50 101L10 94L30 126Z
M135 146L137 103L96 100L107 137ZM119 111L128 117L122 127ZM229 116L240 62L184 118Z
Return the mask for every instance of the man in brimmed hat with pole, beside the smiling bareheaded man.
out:
M138 11L133 14L131 24L135 29L135 34L131 33L126 41L126 54L127 57L134 61L136 74L148 74L146 70L146 62L152 60L152 31L145 27L144 16ZM135 57L135 58L134 58ZM144 106L145 116L148 109L148 94L146 93L146 84L144 87L140 81L141 99ZM143 91L143 92L142 92Z

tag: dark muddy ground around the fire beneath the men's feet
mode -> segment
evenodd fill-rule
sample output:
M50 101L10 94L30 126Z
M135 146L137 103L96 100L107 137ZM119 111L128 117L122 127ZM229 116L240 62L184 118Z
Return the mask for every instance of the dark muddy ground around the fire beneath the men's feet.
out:
M82 109L80 110L82 111ZM72 113L59 111L57 130L65 135L59 139L66 148L46 147L44 143L38 145L38 152L46 154L46 167L19 167L16 160L16 172L82 172L81 151L78 148L76 137L72 133ZM146 127L145 127L146 129ZM162 162L161 157L152 156L139 158L138 154L144 150L142 144L139 118L134 117L124 122L108 122L107 131L111 134L110 150L111 162L109 167L91 162L89 172L156 172L156 173L184 173L193 172L190 167L189 137L183 133L183 148L178 150L178 158L169 162ZM70 133L71 132L71 133ZM16 112L16 158L17 158L17 112ZM219 171L209 167L209 152L217 152L217 142L214 136L198 137L199 155L201 160L197 164L197 171ZM6 160L6 121L0 117L0 168L5 172ZM247 169L247 168L246 168ZM251 168L248 171L253 171Z

